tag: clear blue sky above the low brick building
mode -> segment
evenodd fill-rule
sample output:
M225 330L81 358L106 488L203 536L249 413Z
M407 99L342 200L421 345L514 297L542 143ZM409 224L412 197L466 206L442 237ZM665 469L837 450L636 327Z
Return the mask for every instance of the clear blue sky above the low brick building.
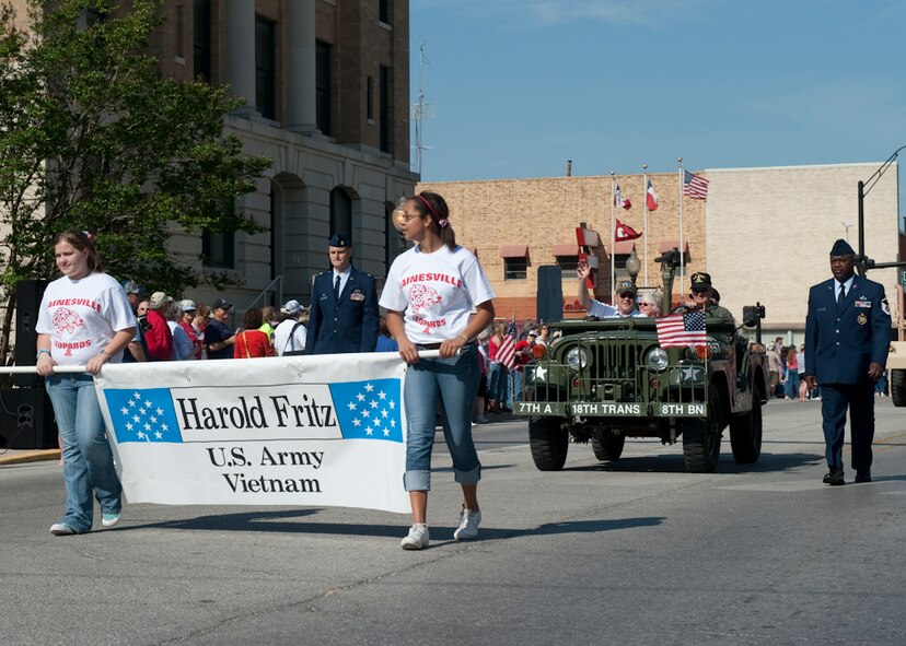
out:
M435 110L425 180L558 176L567 160L573 175L673 172L677 156L689 169L880 164L906 144L906 1L409 8L411 101L423 44Z

